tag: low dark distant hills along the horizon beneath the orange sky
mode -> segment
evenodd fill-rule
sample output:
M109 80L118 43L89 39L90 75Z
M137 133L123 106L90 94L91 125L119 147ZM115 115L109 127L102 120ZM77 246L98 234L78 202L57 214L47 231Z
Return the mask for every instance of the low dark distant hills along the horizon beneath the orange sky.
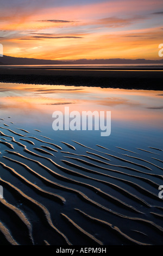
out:
M16 58L3 56L0 65L60 65L60 64L163 64L163 59L78 59L78 60L48 60L33 58Z

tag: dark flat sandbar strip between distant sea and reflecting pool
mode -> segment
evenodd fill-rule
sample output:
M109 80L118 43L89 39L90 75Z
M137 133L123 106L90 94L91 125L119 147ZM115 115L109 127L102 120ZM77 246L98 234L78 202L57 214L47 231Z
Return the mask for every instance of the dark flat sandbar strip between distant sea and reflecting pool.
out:
M161 70L0 68L0 82L163 90Z

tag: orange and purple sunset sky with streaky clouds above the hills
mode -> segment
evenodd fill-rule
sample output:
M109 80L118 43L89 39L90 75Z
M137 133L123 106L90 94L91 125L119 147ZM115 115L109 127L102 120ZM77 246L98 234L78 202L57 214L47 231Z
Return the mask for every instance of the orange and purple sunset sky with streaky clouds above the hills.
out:
M4 55L160 59L162 0L1 0L0 5Z

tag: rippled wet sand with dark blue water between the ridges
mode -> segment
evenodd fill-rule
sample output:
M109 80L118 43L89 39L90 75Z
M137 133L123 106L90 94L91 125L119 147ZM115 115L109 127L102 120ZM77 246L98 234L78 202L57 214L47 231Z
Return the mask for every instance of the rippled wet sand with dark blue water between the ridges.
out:
M40 132L34 137L5 122L9 128L0 127L5 195L0 198L0 244L161 244L161 148L91 148L77 141L57 142Z

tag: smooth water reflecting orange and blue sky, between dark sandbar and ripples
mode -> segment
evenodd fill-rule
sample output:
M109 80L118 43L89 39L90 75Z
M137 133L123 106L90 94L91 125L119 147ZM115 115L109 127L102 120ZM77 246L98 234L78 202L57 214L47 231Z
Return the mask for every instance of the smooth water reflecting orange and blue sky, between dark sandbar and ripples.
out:
M70 139L82 136L85 141L94 137L97 142L103 140L97 131L54 132L52 113L64 112L69 106L70 111L111 111L111 136L104 144L113 139L120 145L128 142L131 147L129 138L132 144L137 138L147 144L161 143L163 95L159 91L1 83L0 93L1 118L11 115L24 129L38 128Z

